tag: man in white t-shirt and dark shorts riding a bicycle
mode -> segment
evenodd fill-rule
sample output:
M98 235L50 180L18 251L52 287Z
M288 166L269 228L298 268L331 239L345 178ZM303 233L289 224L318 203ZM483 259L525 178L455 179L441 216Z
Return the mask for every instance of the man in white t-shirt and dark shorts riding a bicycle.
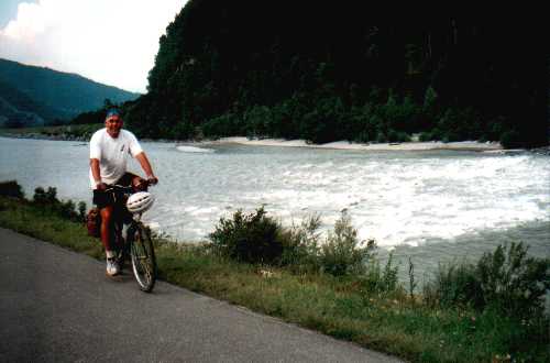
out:
M145 152L133 133L122 130L122 118L119 111L107 112L105 129L98 130L90 140L90 186L94 190L94 204L101 215L101 242L107 255L107 274L120 273L114 246L111 245L111 224L116 198L106 191L108 185L138 186L142 178L127 172L128 157L135 157L147 176L150 184L158 183Z

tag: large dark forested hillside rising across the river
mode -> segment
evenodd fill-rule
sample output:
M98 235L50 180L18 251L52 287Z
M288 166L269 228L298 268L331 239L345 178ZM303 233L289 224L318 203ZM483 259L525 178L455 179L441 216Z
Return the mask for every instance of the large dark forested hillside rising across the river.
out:
M152 138L548 142L535 25L410 19L351 1L190 0L127 120Z

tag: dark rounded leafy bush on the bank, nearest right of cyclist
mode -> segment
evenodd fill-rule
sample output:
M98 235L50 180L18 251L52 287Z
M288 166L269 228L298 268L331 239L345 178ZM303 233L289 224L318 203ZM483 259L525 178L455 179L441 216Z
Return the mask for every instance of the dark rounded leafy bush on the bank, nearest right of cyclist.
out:
M283 244L277 238L278 222L266 217L264 208L244 215L238 210L232 219L220 218L210 240L218 251L230 258L248 263L273 264L283 254Z

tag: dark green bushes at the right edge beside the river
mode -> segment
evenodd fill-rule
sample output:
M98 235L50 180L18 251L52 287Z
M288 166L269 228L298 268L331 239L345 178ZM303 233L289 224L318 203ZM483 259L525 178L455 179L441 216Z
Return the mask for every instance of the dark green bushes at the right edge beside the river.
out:
M542 314L550 288L550 260L527 257L522 243L512 243L485 253L475 265L440 265L435 277L424 290L429 305L468 305L528 318Z

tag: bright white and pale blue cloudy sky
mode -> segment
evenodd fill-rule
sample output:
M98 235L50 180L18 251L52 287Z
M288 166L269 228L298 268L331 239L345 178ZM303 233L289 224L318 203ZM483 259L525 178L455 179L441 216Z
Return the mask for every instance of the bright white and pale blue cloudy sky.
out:
M0 58L146 92L158 38L187 0L0 0Z

